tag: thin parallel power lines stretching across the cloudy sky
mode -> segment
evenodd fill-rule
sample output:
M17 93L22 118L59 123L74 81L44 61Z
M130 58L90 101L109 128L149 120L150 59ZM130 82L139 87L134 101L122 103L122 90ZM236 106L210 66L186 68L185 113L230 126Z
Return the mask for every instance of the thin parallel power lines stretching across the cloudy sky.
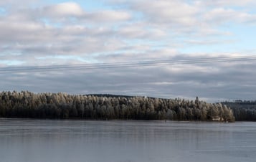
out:
M255 61L256 56L244 57L207 57L207 58L186 58L186 59L161 59L147 60L138 62L110 62L95 64L79 64L79 65L46 65L46 66L19 66L19 67L3 67L1 73L16 72L50 72L62 70L93 70L108 68L132 68L132 67L151 67L161 65L196 65L215 62L251 62Z

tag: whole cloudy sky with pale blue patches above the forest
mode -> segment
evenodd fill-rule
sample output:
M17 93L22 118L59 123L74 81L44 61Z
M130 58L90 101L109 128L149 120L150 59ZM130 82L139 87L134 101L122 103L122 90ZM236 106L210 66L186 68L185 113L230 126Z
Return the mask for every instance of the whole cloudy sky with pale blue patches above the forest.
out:
M221 62L256 57L255 7L254 0L0 0L0 91L256 100L256 61Z

